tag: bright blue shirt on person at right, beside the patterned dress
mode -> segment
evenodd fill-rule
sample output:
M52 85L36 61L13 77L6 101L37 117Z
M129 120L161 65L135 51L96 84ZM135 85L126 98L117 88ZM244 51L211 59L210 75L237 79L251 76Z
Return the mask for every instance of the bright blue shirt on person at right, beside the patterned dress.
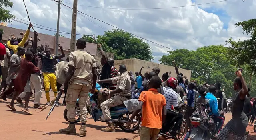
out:
M200 98L200 96L199 96ZM220 116L219 112L218 112L218 101L217 98L210 92L207 92L206 99L209 99L210 101L210 109L212 112L209 113L209 115L214 114L215 116Z

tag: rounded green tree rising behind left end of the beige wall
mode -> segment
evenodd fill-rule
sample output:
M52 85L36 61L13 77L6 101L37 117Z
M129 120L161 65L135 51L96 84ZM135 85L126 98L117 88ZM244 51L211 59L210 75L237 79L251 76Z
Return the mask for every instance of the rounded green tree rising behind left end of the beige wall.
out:
M102 44L104 51L112 52L116 60L138 58L150 61L153 59L148 43L122 30L113 29L105 32L104 35L98 35L97 43Z

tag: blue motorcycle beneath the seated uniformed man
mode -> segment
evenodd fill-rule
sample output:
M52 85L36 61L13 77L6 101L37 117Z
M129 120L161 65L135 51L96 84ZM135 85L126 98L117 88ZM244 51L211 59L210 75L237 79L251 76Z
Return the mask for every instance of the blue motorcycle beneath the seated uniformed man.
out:
M100 108L98 108L98 93L101 87L98 83L96 83L96 92L94 94L90 94L90 105L87 108L88 113L92 116L95 122L107 122L104 118L104 115ZM80 122L80 108L78 104L78 100L76 103L76 121ZM128 111L124 104L118 105L116 107L110 108L110 115L112 118L112 122L114 126L119 126L125 132L134 132L139 129L139 124L141 122L140 115L134 117L131 127L127 127L128 118L132 115L132 111ZM64 118L68 121L67 118L67 110L64 111Z

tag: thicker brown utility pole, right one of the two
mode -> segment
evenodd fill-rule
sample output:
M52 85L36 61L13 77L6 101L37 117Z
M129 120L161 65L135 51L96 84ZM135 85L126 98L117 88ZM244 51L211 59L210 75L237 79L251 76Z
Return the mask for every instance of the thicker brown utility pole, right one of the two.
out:
M75 51L75 45L76 45L76 15L77 15L77 0L74 0L72 27L71 27L70 52Z

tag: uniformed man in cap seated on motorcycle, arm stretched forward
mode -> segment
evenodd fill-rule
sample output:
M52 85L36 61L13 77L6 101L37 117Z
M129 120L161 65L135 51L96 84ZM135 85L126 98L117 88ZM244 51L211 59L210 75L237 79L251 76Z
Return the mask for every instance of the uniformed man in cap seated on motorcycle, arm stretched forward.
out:
M100 80L102 82L106 83L116 83L116 89L113 91L103 91L103 94L110 94L115 95L118 94L117 96L114 96L106 101L104 101L100 107L102 110L102 113L104 115L104 118L106 119L108 123L108 127L102 128L102 131L105 132L116 132L114 128L114 124L111 121L111 115L109 109L111 107L115 107L118 105L123 104L124 101L127 101L131 97L131 79L130 76L127 72L127 68L125 65L119 65L119 72L120 76L114 77L114 78L109 78L106 80ZM99 82L100 82L99 81Z

